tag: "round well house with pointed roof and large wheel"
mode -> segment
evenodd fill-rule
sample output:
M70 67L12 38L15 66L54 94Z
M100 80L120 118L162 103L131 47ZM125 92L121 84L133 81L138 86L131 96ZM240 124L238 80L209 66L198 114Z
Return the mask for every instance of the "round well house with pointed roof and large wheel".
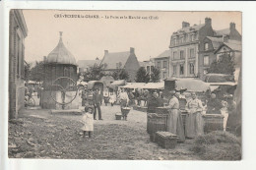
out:
M64 46L60 31L57 46L44 58L42 108L78 109L77 63Z

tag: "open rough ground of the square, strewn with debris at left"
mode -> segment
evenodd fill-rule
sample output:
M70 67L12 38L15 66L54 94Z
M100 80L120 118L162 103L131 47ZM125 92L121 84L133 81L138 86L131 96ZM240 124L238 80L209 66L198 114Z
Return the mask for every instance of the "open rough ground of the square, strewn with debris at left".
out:
M115 120L120 107L101 106L103 121L95 121L92 139L83 138L81 116L52 115L26 109L9 126L9 157L62 159L199 159L190 143L163 149L150 142L146 113L131 110L128 121Z

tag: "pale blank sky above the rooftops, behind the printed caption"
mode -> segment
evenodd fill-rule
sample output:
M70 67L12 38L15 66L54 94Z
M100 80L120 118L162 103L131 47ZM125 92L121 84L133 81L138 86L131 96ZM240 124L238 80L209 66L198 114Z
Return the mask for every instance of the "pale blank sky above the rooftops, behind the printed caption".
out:
M139 61L145 61L168 49L170 35L182 27L183 21L193 26L204 24L208 17L216 30L229 28L231 22L240 33L242 29L240 12L23 10L23 13L28 28L27 62L41 61L47 56L59 41L59 31L63 31L64 45L77 61L102 59L104 50L122 52L130 47L135 48Z

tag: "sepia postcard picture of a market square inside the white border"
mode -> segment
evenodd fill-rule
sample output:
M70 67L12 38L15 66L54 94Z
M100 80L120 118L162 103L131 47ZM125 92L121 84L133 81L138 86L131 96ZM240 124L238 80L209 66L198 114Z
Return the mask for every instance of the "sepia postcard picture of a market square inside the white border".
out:
M242 15L11 9L8 157L241 160Z

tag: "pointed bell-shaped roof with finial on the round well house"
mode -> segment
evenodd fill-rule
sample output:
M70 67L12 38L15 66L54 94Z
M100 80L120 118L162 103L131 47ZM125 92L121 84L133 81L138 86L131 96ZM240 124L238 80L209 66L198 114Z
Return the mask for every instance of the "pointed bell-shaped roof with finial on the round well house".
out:
M69 50L63 44L62 32L60 32L59 43L48 54L45 62L46 63L55 63L55 64L77 65L75 57L69 52Z

